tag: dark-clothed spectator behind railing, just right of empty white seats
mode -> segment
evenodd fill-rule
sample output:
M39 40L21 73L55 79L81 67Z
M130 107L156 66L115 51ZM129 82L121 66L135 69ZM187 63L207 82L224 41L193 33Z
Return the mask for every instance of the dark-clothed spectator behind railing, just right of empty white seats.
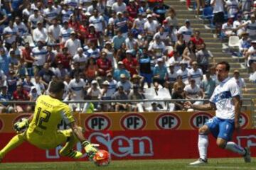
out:
M185 99L183 86L177 86L174 92L171 94L171 99ZM183 101L174 101L175 108L174 111L183 110Z

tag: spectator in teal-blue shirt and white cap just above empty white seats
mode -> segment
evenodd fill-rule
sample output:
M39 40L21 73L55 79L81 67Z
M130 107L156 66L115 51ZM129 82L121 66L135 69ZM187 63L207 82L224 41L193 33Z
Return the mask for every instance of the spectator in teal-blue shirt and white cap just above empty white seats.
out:
M162 58L157 59L157 64L153 70L153 82L158 82L161 86L164 86L164 81L168 77L167 68L164 65L164 60Z

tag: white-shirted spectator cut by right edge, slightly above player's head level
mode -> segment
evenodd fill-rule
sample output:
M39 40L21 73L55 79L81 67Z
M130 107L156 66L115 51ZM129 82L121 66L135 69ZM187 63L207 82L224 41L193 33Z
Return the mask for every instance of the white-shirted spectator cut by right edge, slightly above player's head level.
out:
M252 72L256 71L256 40L252 40L252 46L247 50L245 54L245 60L247 60L247 67L252 69Z

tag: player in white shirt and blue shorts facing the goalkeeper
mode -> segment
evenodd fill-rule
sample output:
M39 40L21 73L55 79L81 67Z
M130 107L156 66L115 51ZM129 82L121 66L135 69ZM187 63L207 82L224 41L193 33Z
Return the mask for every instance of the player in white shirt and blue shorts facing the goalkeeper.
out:
M233 131L240 130L240 90L238 84L228 77L230 64L219 62L216 65L216 74L220 84L215 87L210 103L193 105L190 101L184 103L185 108L193 108L198 111L215 110L215 117L199 129L198 150L199 159L190 165L207 163L208 134L211 132L217 138L217 145L222 149L228 149L244 157L245 162L250 162L250 149L242 148L231 142Z

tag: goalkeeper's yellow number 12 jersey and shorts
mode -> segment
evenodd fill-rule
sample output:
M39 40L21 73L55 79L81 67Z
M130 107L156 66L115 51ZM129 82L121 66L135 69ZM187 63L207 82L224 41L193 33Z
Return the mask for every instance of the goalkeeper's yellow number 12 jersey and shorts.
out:
M60 145L60 142L66 140L57 127L62 119L67 124L75 121L70 107L48 95L39 96L33 120L26 131L28 142L41 148Z

